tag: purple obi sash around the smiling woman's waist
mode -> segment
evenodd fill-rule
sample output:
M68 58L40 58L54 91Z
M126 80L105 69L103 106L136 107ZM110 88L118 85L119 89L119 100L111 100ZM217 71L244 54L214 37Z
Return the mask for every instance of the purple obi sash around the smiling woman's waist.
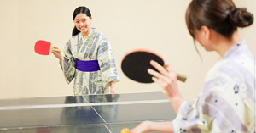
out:
M83 72L92 72L100 70L98 60L79 60L77 59L76 69L79 69Z

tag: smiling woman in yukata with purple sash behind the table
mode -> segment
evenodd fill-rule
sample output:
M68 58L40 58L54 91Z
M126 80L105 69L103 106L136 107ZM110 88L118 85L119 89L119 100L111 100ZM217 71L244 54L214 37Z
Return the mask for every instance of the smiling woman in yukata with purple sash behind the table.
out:
M64 47L64 56L51 51L60 60L61 69L69 84L74 79L75 95L114 93L113 84L119 75L108 38L91 27L92 17L86 7L73 12L72 37Z

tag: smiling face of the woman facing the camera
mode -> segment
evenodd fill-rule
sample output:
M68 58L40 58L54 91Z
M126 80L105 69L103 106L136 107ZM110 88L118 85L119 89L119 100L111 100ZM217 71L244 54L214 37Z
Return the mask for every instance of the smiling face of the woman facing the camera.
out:
M74 24L76 28L83 33L83 35L89 35L91 30L91 18L86 14L77 14L74 19Z

